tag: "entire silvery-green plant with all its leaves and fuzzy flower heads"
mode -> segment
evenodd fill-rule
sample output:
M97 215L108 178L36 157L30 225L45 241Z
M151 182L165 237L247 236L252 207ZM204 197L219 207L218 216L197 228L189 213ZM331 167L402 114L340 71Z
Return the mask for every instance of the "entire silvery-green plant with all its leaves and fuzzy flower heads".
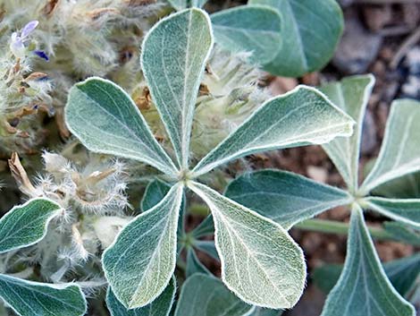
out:
M298 302L307 280L303 251L288 232L295 226L349 228L344 267L315 271L331 291L323 316L414 315L406 299L418 287L418 255L382 268L371 234L420 244L420 204L407 188L420 169L418 102L392 105L381 153L361 183L372 76L298 86L276 98L260 86L259 68L300 76L328 62L342 32L338 4L251 0L211 15L200 9L205 4L0 4L7 64L0 151L23 157L13 153L9 167L28 199L0 218L4 306L23 316L278 316ZM16 64L26 66L14 72ZM73 85L81 77L90 78ZM75 139L48 144L56 152L43 152L34 177L22 149L45 143L44 116L33 116L38 104ZM21 130L30 135L23 147ZM273 169L225 185L233 161L310 144L323 146L346 189ZM349 225L311 219L341 205L351 210ZM211 214L189 229L194 208ZM368 228L368 209L393 221ZM220 261L221 278L197 251ZM10 312L4 306L0 315Z

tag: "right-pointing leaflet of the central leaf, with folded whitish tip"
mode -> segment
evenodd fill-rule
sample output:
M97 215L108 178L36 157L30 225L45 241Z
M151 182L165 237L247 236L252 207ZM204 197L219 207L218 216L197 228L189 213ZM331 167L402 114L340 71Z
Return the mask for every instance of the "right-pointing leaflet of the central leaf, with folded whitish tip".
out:
M256 152L322 144L349 136L354 122L314 88L299 86L258 108L247 121L210 151L194 175Z

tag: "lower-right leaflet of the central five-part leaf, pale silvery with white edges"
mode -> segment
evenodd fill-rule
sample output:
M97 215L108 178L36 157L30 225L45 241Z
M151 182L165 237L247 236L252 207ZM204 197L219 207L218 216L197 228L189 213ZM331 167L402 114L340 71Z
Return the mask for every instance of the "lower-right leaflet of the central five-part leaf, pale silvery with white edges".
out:
M297 303L307 267L287 231L204 184L189 183L189 188L212 210L226 286L244 302L261 307L282 309Z

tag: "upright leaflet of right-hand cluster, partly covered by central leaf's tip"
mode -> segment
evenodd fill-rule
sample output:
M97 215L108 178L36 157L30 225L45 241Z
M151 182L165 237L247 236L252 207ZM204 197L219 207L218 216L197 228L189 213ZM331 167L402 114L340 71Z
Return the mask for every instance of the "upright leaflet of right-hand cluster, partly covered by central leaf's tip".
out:
M374 88L374 76L363 75L332 82L321 87L332 103L340 107L355 121L355 132L350 137L340 137L323 144L350 191L357 189L358 159L362 138L363 119L367 101Z

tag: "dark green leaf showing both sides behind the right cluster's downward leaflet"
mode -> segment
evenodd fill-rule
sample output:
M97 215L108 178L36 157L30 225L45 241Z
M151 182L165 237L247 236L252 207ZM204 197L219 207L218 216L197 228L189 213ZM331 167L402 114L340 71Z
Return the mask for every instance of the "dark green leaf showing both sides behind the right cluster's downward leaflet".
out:
M420 254L386 262L383 269L399 294L406 295L420 273ZM342 265L326 264L315 269L313 278L316 285L328 293L339 280L341 271Z

